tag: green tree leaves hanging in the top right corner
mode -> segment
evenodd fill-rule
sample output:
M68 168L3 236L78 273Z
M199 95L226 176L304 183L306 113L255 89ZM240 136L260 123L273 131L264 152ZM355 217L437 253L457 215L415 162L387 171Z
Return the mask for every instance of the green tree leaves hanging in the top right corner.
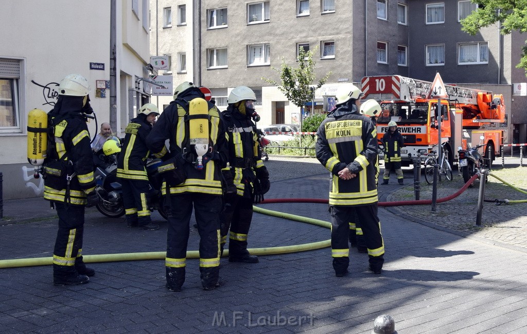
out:
M526 0L472 0L472 3L479 8L461 20L462 31L475 35L482 27L502 22L502 35L508 35L514 30L527 32ZM527 45L522 47L522 57L516 67L523 68L527 73Z

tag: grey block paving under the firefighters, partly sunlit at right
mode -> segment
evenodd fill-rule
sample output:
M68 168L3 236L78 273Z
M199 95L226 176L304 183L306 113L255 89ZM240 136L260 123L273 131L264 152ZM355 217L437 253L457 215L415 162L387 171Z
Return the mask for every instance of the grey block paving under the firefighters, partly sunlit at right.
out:
M266 164L267 198L327 199L328 172L318 162L271 156ZM405 170L405 182L411 178ZM406 187L381 188L381 201ZM326 204L261 207L329 221ZM352 249L350 273L335 277L329 248L261 256L257 264L222 259L226 284L213 291L201 290L197 259L188 261L179 293L164 288L163 260L92 263L96 275L76 287L53 286L50 266L0 268L0 332L369 334L382 314L395 319L399 334L527 330L524 252L431 228L392 209L379 208L386 247L380 276L367 271L366 254ZM51 257L56 222L44 200L4 201L4 217L0 260ZM167 223L158 213L153 219L161 229L141 231L88 209L83 253L163 251ZM327 239L326 228L255 213L249 247ZM198 241L192 231L189 250Z

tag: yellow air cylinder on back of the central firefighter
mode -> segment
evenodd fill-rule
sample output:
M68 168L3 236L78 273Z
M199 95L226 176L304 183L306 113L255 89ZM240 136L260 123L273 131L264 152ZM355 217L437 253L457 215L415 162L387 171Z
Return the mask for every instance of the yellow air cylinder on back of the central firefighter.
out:
M203 169L203 155L209 151L209 104L201 97L190 101L189 140L194 146L198 159L196 169Z

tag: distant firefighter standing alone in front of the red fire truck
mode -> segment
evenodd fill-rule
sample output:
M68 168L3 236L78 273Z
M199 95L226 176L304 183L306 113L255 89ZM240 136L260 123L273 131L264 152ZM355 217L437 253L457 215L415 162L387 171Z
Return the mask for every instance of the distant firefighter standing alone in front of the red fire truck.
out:
M403 169L401 168L401 148L404 147L403 135L397 129L397 123L390 121L388 131L383 135L384 144L384 175L383 183L388 184L392 169L395 170L397 181L404 185Z

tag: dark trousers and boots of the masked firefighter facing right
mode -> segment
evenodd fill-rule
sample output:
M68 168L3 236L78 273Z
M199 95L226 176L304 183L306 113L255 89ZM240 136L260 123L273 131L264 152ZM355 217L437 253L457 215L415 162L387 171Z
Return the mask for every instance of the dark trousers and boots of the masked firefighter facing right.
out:
M252 221L252 199L238 195L228 198L225 210L220 215L222 240L229 233L229 256L242 257L249 254L247 250L247 234ZM225 243L221 244L221 250Z

